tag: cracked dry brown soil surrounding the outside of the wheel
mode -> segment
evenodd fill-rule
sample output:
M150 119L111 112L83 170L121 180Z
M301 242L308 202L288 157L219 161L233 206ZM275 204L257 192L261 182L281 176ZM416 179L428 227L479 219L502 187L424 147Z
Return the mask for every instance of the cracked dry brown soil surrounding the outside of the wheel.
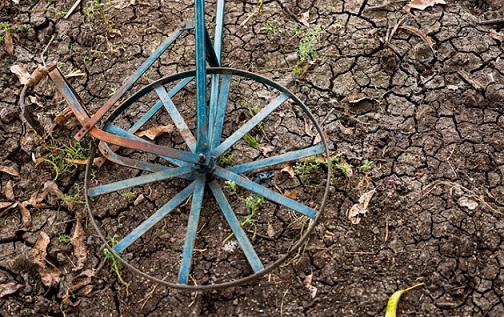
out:
M65 292L78 272L72 271L72 247L58 234L73 232L82 208L48 197L45 208L31 210L29 227L17 210L0 217L0 284L20 285L0 298L0 316L383 316L394 291L419 282L425 285L403 295L399 316L503 316L504 60L503 44L490 34L504 31L497 20L504 8L500 1L446 2L408 16L409 25L432 39L434 55L423 39L402 29L384 44L405 16L401 4L265 1L260 14L242 26L257 2L228 1L224 65L287 86L323 123L331 152L355 167L352 175L333 171L329 201L309 243L270 275L206 293L156 287L123 271L127 292L106 262L92 278L92 291L68 302ZM69 144L75 133L62 130L53 140L41 140L28 130L30 138L20 143L21 86L8 71L12 64L33 70L54 36L48 60L58 61L64 73L82 70L86 75L72 84L97 109L192 15L189 0L112 1L105 5L108 25L98 11L86 16L87 4L63 19L73 3L0 4L1 21L33 26L16 33L13 55L0 51L0 162L20 174L0 174L1 201L8 200L9 181L15 200L25 201L53 179L54 170L36 166L31 153L45 155L44 144ZM317 57L304 76L295 76L299 36L293 30L305 12L310 26L320 25L323 32ZM490 20L495 22L482 23ZM191 45L192 37L181 38L140 85L190 69ZM366 98L351 97L357 93ZM50 125L65 107L61 97L48 81L33 95L43 104L36 108L39 120ZM371 170L357 168L364 160L372 161ZM113 177L114 167L105 165L97 174ZM57 184L66 195L78 195L83 177L77 167ZM368 212L352 224L348 210L371 189L376 194ZM157 197L148 202L158 204ZM121 198L117 204L131 204ZM97 269L104 261L100 241L83 224L83 270ZM41 231L51 239L48 259L62 270L61 282L51 289L42 285L31 255Z

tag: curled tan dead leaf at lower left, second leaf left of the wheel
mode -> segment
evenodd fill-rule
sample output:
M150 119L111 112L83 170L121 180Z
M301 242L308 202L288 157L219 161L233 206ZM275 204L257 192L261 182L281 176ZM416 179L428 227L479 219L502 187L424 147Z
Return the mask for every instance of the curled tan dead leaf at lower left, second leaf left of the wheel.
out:
M47 287L56 287L60 282L61 270L47 260L49 242L50 239L47 233L41 231L32 248L33 263L39 268L42 284Z

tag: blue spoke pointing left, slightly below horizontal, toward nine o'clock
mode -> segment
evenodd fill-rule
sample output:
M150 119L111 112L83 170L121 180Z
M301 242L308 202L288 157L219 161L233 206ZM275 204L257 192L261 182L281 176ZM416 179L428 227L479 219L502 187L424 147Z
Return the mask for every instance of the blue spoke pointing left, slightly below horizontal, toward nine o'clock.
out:
M122 181L110 183L107 185L97 186L90 188L88 190L88 196L95 197L103 194L108 194L112 192L116 192L121 189L131 188L135 186L145 185L152 182L162 181L165 179L173 178L173 177L182 177L186 174L192 172L192 166L187 165L183 167L170 168L165 171L160 171L156 173L151 173L147 175L142 175L138 177L133 177L129 179L125 179Z

